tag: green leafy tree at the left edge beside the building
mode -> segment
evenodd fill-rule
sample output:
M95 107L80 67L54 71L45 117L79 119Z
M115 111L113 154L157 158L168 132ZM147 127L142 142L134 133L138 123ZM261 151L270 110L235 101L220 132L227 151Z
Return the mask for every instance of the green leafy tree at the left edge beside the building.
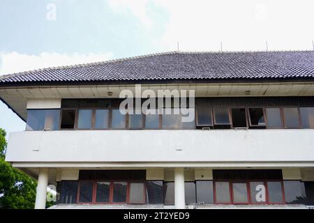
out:
M0 209L33 208L37 183L4 160L6 132L0 128Z

